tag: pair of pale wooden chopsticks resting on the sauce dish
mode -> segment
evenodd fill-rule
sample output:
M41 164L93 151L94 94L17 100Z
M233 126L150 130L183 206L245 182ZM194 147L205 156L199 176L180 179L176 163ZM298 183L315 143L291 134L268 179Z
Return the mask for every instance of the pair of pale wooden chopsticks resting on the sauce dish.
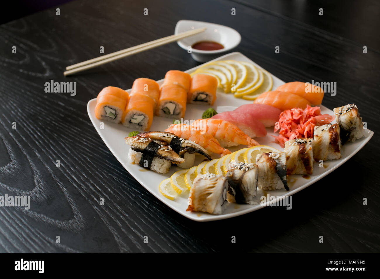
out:
M129 55L133 55L148 49L153 49L158 46L163 46L164 44L169 44L175 41L178 41L180 39L193 36L195 34L204 32L206 30L206 27L198 28L186 32L182 32L176 35L167 36L164 38L160 38L154 41L150 41L144 44L139 44L138 46L129 47L127 49L122 49L116 52L112 52L110 54L106 54L97 58L93 58L90 60L86 60L71 66L67 66L65 72L63 74L65 76L69 76L74 73L78 73L87 69L95 68L97 66L109 63L111 61L119 60L121 58L127 57Z

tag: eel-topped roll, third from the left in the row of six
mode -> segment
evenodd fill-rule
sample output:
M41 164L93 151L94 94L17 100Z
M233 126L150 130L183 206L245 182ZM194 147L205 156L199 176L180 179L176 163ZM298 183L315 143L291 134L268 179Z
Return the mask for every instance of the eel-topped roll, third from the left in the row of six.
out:
M261 153L256 156L259 168L258 188L263 190L289 190L285 152Z

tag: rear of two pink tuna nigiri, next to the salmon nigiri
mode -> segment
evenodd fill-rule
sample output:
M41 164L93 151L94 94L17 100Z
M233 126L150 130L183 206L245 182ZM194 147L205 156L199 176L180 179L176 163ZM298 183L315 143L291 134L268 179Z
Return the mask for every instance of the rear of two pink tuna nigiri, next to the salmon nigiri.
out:
M272 127L279 121L281 110L266 104L245 104L235 109L234 113L248 114L263 123L265 127Z

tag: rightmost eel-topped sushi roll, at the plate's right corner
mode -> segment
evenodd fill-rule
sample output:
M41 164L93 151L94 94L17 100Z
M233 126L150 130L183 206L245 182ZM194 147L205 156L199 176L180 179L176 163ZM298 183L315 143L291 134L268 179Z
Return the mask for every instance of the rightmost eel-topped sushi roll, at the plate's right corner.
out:
M340 125L340 139L342 143L353 142L364 137L363 122L358 107L348 104L334 108L336 123Z

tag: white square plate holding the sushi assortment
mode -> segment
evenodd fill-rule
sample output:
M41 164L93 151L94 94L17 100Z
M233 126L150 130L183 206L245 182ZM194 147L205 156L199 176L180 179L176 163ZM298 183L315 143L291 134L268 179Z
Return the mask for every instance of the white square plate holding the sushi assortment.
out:
M242 55L240 52L233 52L230 54L223 55L215 60L211 61L217 61L217 60L237 60L237 61L247 61L250 63L253 63L255 66L261 68L259 65L251 61L249 58ZM211 62L210 61L210 62ZM207 62L209 63L209 62ZM201 67L202 65L199 65L195 68L189 69L186 71L186 73L192 73L197 68ZM280 85L284 84L284 82L277 77L273 76L273 88L277 88ZM158 84L162 84L163 79L157 81ZM128 93L130 92L130 89L127 90ZM233 94L225 94L218 92L217 93L217 100L215 101L214 108L216 109L218 106L234 106L238 107L242 104L250 103L251 101L246 101L244 99L238 99L234 98ZM346 104L336 104L336 107L344 106ZM220 220L220 219L226 219L231 218L235 216L239 216L245 213L249 213L255 210L258 210L260 208L263 208L264 206L260 205L260 199L258 199L258 205L237 205L237 204L229 204L226 208L226 210L223 212L223 214L220 215L212 215L208 213L193 213L186 211L187 209L187 198L188 198L188 191L182 192L181 195L177 195L175 200L169 200L166 199L159 191L158 191L158 184L170 177L174 172L177 170L180 170L177 166L172 166L170 171L166 174L156 173L153 171L146 170L136 164L131 164L128 162L127 154L128 150L130 148L129 145L125 144L124 137L128 136L128 133L131 132L131 129L125 128L121 124L114 124L109 123L107 121L104 122L104 129L100 129L100 120L98 120L95 117L95 106L96 106L96 98L92 99L87 104L87 112L89 114L90 120L92 124L94 125L96 131L100 135L101 139L105 142L109 150L111 150L112 154L116 157L116 159L119 160L120 164L125 167L125 169L142 185L144 186L149 192L151 192L157 199L161 200L161 202L168 205L173 210L177 211L179 214L182 214L183 216L199 221L199 222L206 222L206 221L213 221L213 220ZM184 119L185 120L196 120L202 117L202 113L204 110L206 110L208 106L196 106L192 104L187 105L186 114ZM329 113L334 114L332 110L320 106L321 113ZM360 106L359 106L360 109ZM164 117L154 117L151 130L152 131L164 131L168 125L170 125L173 122L173 119L171 118L164 118ZM334 123L334 122L333 122ZM274 138L270 136L270 134L274 135L273 128L267 128L268 134L266 137L259 137L255 138L260 144L262 145L269 145L271 147L277 148L279 150L283 150L283 148L280 147L278 143L274 142ZM363 146L370 140L374 133L368 129L365 130L365 137L362 139L356 140L355 142L346 143L342 147L342 158L338 160L331 160L326 161L324 163L323 167L319 167L319 163L314 163L314 172L310 177L303 178L302 175L289 175L288 181L289 181L289 188L290 191L284 190L276 190L276 191L266 191L266 194L274 195L274 196L290 196L294 193L301 191L302 189L306 188L307 186L313 184L314 182L320 180L321 178L328 175L330 172L335 170L337 167L341 166L345 161L350 159L356 152L358 152ZM241 148L244 148L245 146L239 145L237 147L229 148L232 152L239 150ZM215 155L215 154L214 154ZM201 156L197 156L198 162L201 162ZM217 158L217 156L214 156L213 158ZM148 175L149 174L149 175ZM269 202L268 202L269 203ZM267 205L268 205L267 203Z

